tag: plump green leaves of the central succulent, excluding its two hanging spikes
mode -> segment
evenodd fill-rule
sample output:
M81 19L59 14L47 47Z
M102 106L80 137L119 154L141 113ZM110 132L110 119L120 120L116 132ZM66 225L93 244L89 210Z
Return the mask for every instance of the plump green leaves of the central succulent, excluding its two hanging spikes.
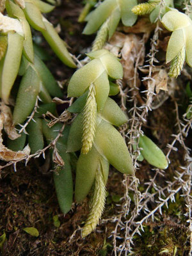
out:
M132 161L124 139L113 127L127 122L127 116L116 102L109 98L109 79L122 78L122 65L113 54L106 50L90 52L91 61L75 72L68 84L68 95L79 97L68 111L79 113L72 123L69 132L67 151L76 152L83 147L84 106L88 100L88 88L95 86L95 100L97 103L97 118L93 145L87 154L81 153L77 161L76 172L76 200L84 199L92 188L95 173L99 164L106 182L109 164L122 173L132 173ZM112 84L112 87L114 85ZM110 90L111 89L111 90Z

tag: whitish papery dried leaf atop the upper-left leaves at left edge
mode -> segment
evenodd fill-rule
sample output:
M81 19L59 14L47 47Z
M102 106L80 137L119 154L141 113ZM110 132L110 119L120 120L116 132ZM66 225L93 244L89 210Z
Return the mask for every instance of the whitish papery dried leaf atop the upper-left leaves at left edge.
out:
M17 19L12 19L8 16L4 16L2 13L0 13L0 31L3 33L15 31L19 35L24 36L20 21Z

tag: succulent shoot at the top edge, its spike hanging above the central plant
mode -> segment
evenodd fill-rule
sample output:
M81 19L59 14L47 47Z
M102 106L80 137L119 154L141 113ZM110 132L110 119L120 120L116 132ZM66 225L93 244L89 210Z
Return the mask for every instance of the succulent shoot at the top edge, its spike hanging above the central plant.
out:
M106 40L113 36L120 19L125 26L132 26L136 22L137 15L131 12L136 4L137 0L104 0L87 15L85 19L87 24L83 33L91 35L99 29L93 42L93 51L102 49Z

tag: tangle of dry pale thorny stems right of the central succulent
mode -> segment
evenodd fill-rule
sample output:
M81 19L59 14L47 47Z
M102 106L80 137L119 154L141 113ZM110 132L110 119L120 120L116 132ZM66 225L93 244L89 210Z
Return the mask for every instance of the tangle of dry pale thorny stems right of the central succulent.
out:
M161 8L164 5L164 1L161 1ZM186 12L189 13L189 6L186 6ZM161 10L159 12L159 18L160 18ZM134 168L137 170L138 163L137 163L137 157L140 154L140 148L138 148L138 143L136 138L140 136L143 132L141 131L142 125L147 122L147 115L148 111L152 111L151 104L153 102L154 95L154 83L152 78L152 73L155 67L155 63L158 63L156 59L156 53L157 53L157 41L159 38L159 32L161 31L161 28L159 26L159 20L157 20L156 29L154 31L154 36L151 41L151 47L150 52L147 54L148 56L148 65L145 65L144 68L148 68L148 76L143 78L143 81L147 81L147 90L143 93L146 93L147 99L145 106L139 106L138 100L136 95L139 93L139 88L136 84L136 74L138 70L138 63L140 60L140 54L141 51L145 51L145 44L144 42L141 42L143 44L143 48L141 48L141 51L138 53L138 58L136 59L135 63L135 69L134 69L134 86L129 90L129 93L131 93L131 96L126 96L127 92L125 93L123 90L120 91L121 95L121 102L122 102L122 108L125 109L126 102L131 102L133 107L129 110L129 116L131 118L129 119L129 131L124 136L125 138L129 139L128 147L129 151L132 152L132 144L136 144L136 150L132 152L132 161L134 163ZM126 99L126 97L128 99ZM161 208L166 205L168 207L168 202L175 200L175 195L179 193L180 191L183 191L183 195L186 200L186 207L188 209L188 212L186 212L186 216L188 218L188 230L189 230L189 242L190 242L190 250L189 255L192 253L192 219L191 219L191 209L192 209L192 198L191 198L191 157L189 156L189 148L186 147L184 139L188 136L189 129L191 129L191 120L188 120L186 116L184 116L183 122L179 120L179 111L178 111L178 105L177 101L174 99L175 104L175 111L176 111L176 120L177 120L177 127L179 129L178 134L173 134L174 140L172 141L172 144L168 144L168 153L166 154L166 157L170 163L170 153L172 150L177 151L177 148L174 147L176 141L179 141L182 148L185 150L185 160L186 160L186 166L180 167L183 171L180 172L179 170L175 170L175 177L172 182L167 182L164 188L161 188L157 184L157 177L159 175L164 176L164 171L156 169L154 170L154 177L150 179L149 182L145 183L145 186L147 185L147 188L145 188L145 191L141 193L138 189L138 185L140 184L140 180L136 178L135 175L132 175L132 177L127 177L125 175L125 179L123 181L124 188L125 188L125 194L122 198L123 206L120 210L118 216L113 216L111 218L112 222L116 222L115 230L113 230L113 250L116 255L128 255L128 253L131 252L131 244L133 244L133 239L135 234L141 234L140 230L143 230L143 223L145 223L149 218L152 218L152 221L154 220L154 215L157 211L159 211L160 214ZM155 193L150 193L151 189L155 189ZM132 205L131 198L129 197L130 191L133 191L134 193L134 205ZM153 202L153 205L156 204L154 209L148 209L147 203ZM132 211L131 211L132 209ZM127 220L127 216L131 216ZM140 218L140 221L136 221ZM105 220L103 220L105 221ZM124 230L122 232L122 230Z

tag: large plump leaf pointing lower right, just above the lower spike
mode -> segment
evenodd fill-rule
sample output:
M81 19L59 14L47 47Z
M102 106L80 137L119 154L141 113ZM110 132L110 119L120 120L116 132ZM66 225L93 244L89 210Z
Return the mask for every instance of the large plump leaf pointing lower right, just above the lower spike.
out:
M113 125L104 120L100 122L95 133L94 145L116 170L127 174L133 172L132 160L125 140Z

